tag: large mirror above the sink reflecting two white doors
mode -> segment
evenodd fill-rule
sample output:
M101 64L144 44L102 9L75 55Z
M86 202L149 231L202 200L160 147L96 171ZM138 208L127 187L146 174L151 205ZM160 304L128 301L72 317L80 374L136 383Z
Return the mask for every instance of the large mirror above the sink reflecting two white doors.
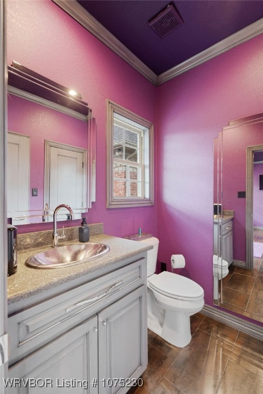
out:
M53 220L70 205L81 217L95 201L96 122L80 94L13 62L8 67L8 218ZM58 218L59 219L59 218ZM61 212L59 220L67 220Z

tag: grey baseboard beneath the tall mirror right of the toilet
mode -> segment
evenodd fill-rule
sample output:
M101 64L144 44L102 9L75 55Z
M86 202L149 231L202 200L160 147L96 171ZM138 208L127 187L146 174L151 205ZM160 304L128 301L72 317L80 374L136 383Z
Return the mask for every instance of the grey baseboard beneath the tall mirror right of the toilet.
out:
M234 327L239 331L246 332L253 337L263 340L263 326L258 326L210 305L204 305L201 312L221 323L227 324L228 326Z

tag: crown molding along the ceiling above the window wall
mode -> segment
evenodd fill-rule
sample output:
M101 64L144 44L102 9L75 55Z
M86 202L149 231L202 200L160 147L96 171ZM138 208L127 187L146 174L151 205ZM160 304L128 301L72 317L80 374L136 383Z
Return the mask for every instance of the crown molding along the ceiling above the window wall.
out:
M90 15L76 0L52 0L75 21L98 38L109 49L115 52L126 63L132 66L148 81L156 85L157 75L150 70L140 59L128 50L117 38L102 26L95 17Z

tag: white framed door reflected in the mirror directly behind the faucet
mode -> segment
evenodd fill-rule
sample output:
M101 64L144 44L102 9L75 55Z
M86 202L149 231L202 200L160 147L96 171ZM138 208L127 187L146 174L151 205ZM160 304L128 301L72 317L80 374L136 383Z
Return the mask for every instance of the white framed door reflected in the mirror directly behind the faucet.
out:
M50 147L49 207L67 204L73 210L84 204L84 153ZM68 211L58 212L59 220L66 220ZM60 216L60 217L59 217ZM78 219L74 215L74 219Z

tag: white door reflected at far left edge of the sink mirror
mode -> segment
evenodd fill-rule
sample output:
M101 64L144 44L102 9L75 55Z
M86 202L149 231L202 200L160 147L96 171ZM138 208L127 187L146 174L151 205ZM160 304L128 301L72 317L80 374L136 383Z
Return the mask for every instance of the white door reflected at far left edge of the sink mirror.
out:
M7 217L12 224L27 224L29 211L29 150L26 135L8 132L7 140Z

